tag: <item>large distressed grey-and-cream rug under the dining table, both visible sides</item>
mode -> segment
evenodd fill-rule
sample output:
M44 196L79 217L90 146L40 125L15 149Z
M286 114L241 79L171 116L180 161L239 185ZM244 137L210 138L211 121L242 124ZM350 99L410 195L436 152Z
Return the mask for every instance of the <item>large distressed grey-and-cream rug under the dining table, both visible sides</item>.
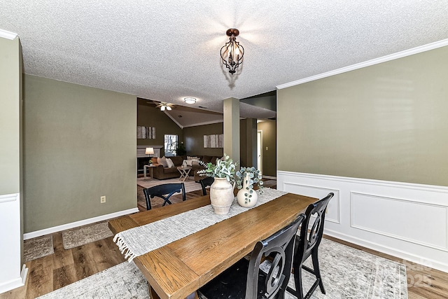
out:
M326 295L311 298L407 298L405 265L323 239L319 248ZM304 275L304 287L313 279ZM290 284L294 286L293 279ZM148 284L134 263L121 263L39 298L149 298ZM286 293L286 298L294 298Z

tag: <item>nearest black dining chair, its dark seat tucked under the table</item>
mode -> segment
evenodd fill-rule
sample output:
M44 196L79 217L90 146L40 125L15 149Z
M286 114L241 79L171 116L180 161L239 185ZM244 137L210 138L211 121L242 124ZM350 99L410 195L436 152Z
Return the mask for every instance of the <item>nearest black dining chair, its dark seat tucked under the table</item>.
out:
M291 274L294 236L304 218L304 214L300 214L293 223L275 232L274 235L258 241L250 260L241 258L232 267L209 281L197 291L199 297L283 299ZM265 271L260 269L262 260L270 260Z

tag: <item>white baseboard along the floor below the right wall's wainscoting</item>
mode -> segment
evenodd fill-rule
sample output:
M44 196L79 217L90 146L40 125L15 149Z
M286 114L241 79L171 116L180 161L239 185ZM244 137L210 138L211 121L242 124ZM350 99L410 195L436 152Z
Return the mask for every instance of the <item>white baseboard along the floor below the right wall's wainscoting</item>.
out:
M325 228L323 230L323 233L330 237L335 237L336 239L341 239L343 241L350 242L352 244L356 244L359 246L363 246L365 248L372 249L375 251L379 251L381 253L386 253L389 256L395 256L395 258L402 258L403 260L401 263L404 263L404 264L405 264L405 260L408 260L409 262L417 263L419 265L423 265L424 267L433 268L433 269L437 269L437 270L448 273L448 264L447 263L440 263L440 261L433 260L428 257L425 257L423 259L421 256L409 254L407 252L393 249L388 246L382 246L381 244L369 242L369 241L366 241L365 239L359 239L357 237L346 235L341 232L336 232L335 230L328 230Z

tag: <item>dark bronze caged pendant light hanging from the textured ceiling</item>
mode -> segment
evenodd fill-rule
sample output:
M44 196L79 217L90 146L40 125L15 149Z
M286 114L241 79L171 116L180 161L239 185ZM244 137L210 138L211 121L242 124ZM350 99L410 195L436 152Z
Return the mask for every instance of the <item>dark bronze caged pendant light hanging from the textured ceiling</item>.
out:
M230 36L230 40L221 48L221 60L223 60L225 67L229 69L229 73L233 75L235 69L243 62L244 48L237 42L238 29L230 28L225 33Z

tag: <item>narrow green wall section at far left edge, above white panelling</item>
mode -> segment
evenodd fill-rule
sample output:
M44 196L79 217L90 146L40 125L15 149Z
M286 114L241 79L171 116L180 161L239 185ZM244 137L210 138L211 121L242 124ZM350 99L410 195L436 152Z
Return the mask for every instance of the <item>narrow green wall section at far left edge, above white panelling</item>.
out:
M21 52L19 39L0 38L0 195L20 193Z

